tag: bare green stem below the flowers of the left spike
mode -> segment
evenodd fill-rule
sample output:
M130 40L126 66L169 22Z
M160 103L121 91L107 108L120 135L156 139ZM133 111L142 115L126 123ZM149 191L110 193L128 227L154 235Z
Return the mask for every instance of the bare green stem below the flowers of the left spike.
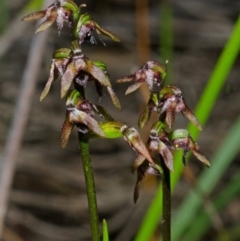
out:
M87 198L88 198L88 209L90 216L90 225L93 241L100 241L99 235L99 222L98 222L98 209L97 209L97 198L95 191L95 183L92 169L92 162L89 154L89 142L82 134L79 133L79 147L81 150L81 157L83 162L83 170L85 175Z

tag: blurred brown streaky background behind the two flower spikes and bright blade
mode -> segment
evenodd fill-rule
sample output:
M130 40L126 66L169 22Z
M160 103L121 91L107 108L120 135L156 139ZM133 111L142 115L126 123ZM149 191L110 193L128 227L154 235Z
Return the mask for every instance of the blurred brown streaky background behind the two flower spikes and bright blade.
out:
M54 24L46 35L34 35L36 22L21 22L24 15L43 9L42 3L48 6L52 2L0 1L0 195L5 197L0 200L0 224L3 226L1 240L5 241L91 239L76 130L71 134L68 146L64 150L60 146L65 103L60 99L59 81L53 84L44 101L39 102L48 79L53 51L69 47L69 29L65 26L59 36ZM83 12L89 12L103 28L121 39L121 43L116 43L102 36L106 47L98 40L97 45L84 43L82 48L91 60L106 63L123 110L119 112L114 108L106 90L101 104L116 120L134 127L137 127L138 117L148 100L148 90L143 87L125 97L128 84L117 85L115 81L133 73L150 59L162 64L168 60L168 83L181 88L186 103L194 110L225 44L231 38L240 10L239 1L227 0L75 2L86 3ZM41 35L45 39L38 44ZM240 44L240 37L236 43ZM240 114L240 59L236 50L227 54L236 57L222 85L216 84L216 100L208 100L213 108L197 140L210 162L216 160L216 168L212 164L206 170L196 158L190 158L173 191L173 240L240 240L240 128L237 124ZM39 62L35 61L39 56ZM19 93L30 85L23 82L29 76L36 79L36 82L30 81L32 94L26 92L24 95L26 99L30 96L30 101L27 99L30 109L17 112ZM219 81L221 78L220 74ZM87 97L98 102L91 83L88 84ZM22 106L26 104L23 102ZM204 113L205 109L202 108L201 112ZM18 122L17 113L25 121ZM179 115L175 126L185 128L187 125L188 122ZM13 130L18 133L16 137ZM146 127L141 131L144 140L148 130ZM13 145L15 148L10 149ZM219 151L224 148L227 157L221 159L223 164L218 169L220 157L223 157ZM10 154L7 150L11 150ZM142 221L161 178L146 177L140 198L134 204L136 175L130 170L135 153L129 146L122 139L93 140L91 154L100 220L107 220L110 239L140 241L137 234L142 229ZM6 163L11 155L11 162ZM4 180L10 181L11 185L4 188ZM200 187L198 180L208 183ZM207 186L211 188L204 190ZM187 200L194 199L194 195L197 195L198 205L189 211L192 216L183 220L185 215L188 216L184 205L188 206ZM177 230L181 222L184 224ZM159 218L156 229L145 240L160 240L160 226Z

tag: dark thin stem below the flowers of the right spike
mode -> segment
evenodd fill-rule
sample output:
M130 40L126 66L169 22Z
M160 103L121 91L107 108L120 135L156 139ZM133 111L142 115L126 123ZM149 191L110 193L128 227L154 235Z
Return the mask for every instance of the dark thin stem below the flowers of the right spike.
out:
M163 170L162 174L162 207L163 207L163 219L162 219L162 241L171 240L171 182L170 171L166 167L162 156L160 156L161 166Z

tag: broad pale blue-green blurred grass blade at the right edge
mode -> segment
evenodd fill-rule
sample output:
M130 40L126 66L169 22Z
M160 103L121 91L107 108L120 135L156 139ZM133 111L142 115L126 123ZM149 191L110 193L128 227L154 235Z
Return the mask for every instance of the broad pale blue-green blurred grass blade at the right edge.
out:
M206 169L198 179L198 186L208 195L220 180L227 167L239 151L240 116L229 131L219 151L211 161L211 168ZM202 205L201 197L191 191L186 201L181 205L172 223L172 240L180 240L181 235L190 223L195 220L197 209Z

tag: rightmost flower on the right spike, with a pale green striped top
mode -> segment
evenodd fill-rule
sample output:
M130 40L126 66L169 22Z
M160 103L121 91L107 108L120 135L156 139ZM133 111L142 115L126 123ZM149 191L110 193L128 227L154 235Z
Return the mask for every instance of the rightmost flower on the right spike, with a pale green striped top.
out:
M186 156L189 151L204 165L210 167L207 158L200 152L199 145L194 142L189 132L185 129L177 129L170 133L171 141L176 150L183 150L183 163L186 164Z

